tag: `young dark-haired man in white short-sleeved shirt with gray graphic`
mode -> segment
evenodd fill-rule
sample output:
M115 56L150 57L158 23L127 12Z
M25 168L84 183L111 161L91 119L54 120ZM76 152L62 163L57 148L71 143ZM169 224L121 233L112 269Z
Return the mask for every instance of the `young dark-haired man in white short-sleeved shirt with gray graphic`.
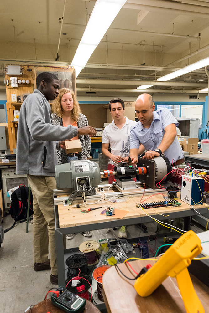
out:
M114 98L109 103L110 114L113 117L112 123L105 127L102 134L102 154L109 158L108 170L114 170L118 161L123 161L129 156L130 151L130 131L137 122L129 120L124 116L125 104L120 98ZM110 145L111 152L108 151ZM109 184L115 177L109 177ZM135 179L136 180L136 179ZM118 231L119 238L126 238L126 226L122 226Z

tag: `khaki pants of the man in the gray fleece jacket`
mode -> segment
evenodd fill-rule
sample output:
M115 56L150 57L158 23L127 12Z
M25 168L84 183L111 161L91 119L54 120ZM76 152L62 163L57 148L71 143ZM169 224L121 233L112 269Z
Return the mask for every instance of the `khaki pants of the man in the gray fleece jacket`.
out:
M27 176L34 199L34 262L46 262L50 246L51 274L57 275L53 204L53 189L56 189L55 177L29 174Z

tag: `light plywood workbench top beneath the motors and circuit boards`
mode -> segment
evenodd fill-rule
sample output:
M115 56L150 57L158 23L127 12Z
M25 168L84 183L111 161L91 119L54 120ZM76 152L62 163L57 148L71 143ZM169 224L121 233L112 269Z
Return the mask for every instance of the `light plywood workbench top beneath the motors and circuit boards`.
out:
M178 193L178 196L180 197L180 192ZM149 197L150 196L144 196L142 200L143 201L145 200L145 201L143 203L164 200L162 194L156 194L156 195L151 196L150 198ZM125 215L123 220L127 218L142 217L142 216L145 216L146 213L152 216L156 214L164 214L166 218L169 218L169 213L178 212L178 211L187 211L191 208L189 204L179 200L179 202L182 203L182 205L179 207L168 206L168 207L160 207L160 208L151 208L151 209L146 209L144 212L142 209L136 207L136 204L139 203L141 198L142 196L140 197L125 196L125 197L118 199L123 202L117 202L117 203L112 203L110 201L102 200L101 202L98 202L97 204L87 205L87 207L84 208L84 210L87 210L88 208L102 207L100 209L90 211L89 213L82 213L81 212L83 210L82 208L71 208L71 206L63 206L62 204L60 204L58 205L60 228L118 220L114 216L105 216L105 215L100 214L108 206L112 206L112 207L115 207L116 209L128 211L128 213ZM127 200L126 202L124 201L125 199ZM204 203L204 206L206 206L205 203ZM201 207L202 205L195 206L195 208L201 208Z

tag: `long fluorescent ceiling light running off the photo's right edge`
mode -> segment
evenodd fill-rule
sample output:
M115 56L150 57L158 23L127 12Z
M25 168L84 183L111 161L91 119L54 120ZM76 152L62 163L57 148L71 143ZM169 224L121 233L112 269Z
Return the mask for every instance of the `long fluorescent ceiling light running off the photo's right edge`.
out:
M193 72L196 69L201 69L201 67L205 67L207 65L209 65L209 57L207 57L205 59L202 59L200 61L197 61L197 62L195 62L193 64L190 64L188 66L185 66L183 69L179 69L178 71L175 71L175 72L172 72L172 73L170 73L168 75L162 76L162 77L158 78L157 80L158 81L171 80L171 79L173 79L175 77L179 77L181 75Z

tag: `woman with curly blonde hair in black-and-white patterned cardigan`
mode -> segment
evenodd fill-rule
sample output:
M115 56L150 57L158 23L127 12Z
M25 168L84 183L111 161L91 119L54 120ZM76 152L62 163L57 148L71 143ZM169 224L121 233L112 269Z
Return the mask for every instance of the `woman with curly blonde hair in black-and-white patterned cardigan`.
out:
M88 126L88 120L81 113L74 92L68 88L62 88L59 91L59 95L52 103L52 125L64 127L72 125L78 128ZM90 157L91 139L89 135L78 135L72 138L72 140L74 139L80 139L82 152L67 155L65 150L57 150L58 164L67 163L71 160L86 160Z

